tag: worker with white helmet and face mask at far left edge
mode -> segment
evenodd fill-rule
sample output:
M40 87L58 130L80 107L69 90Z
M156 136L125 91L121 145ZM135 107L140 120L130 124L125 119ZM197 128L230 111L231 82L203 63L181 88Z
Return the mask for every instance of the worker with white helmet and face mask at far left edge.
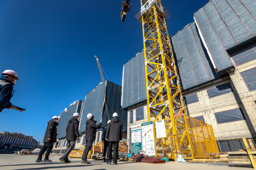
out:
M12 98L13 85L16 84L18 79L18 73L12 70L5 70L0 77L0 112L3 109L12 109Z

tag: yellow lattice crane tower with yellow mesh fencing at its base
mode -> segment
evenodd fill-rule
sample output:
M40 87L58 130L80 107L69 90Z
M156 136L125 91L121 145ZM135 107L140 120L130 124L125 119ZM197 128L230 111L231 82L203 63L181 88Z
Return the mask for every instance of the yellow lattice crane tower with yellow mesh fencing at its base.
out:
M141 6L147 1L141 0ZM162 6L161 1L158 2ZM177 158L177 154L186 154L186 158L207 158L209 156L204 153L218 152L213 130L210 125L200 121L198 124L198 120L186 115L166 18L160 8L154 4L141 16L148 121L151 121L151 113L154 128L155 122L160 119L166 123L166 138L156 138L154 134L156 156ZM149 71L149 68L152 70ZM191 120L194 128L189 126L188 121ZM201 130L198 131L198 128Z

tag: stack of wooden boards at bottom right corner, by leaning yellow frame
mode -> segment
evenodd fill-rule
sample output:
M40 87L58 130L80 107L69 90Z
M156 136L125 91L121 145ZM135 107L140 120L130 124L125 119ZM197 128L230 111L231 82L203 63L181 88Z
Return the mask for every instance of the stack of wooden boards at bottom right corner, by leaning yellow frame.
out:
M253 155L254 162L256 161L256 150L250 150ZM228 162L232 164L252 164L247 151L228 152Z

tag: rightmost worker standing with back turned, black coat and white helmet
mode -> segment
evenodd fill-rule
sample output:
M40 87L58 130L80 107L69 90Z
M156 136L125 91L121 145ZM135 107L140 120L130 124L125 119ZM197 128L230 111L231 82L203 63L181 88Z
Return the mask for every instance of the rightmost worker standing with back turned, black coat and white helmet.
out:
M117 164L119 141L123 138L123 124L118 119L118 114L114 113L111 122L106 130L106 140L108 140L108 155L106 164L111 164L112 147L114 146L113 165Z

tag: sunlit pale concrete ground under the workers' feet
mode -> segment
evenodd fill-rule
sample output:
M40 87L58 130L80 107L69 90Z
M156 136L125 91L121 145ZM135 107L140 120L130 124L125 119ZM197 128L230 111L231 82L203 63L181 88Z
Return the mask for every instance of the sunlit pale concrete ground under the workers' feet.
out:
M36 163L36 155L0 154L0 170L250 170L251 167L234 167L232 165L177 163L147 164L141 162L121 162L118 165L106 165L102 161L88 160L92 164L81 164L81 159L70 158L69 164L62 164L60 156L50 156L51 163ZM44 156L43 156L44 159Z

